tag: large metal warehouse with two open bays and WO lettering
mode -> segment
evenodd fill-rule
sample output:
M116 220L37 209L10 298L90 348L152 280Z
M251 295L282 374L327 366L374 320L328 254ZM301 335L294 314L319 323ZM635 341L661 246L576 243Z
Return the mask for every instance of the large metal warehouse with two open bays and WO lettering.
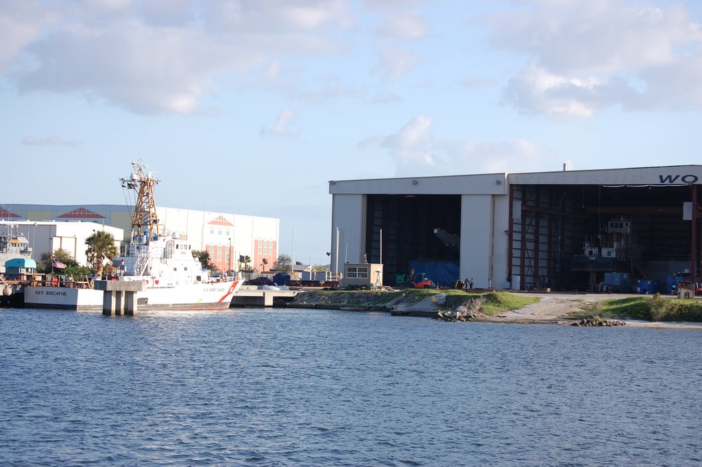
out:
M443 268L517 290L694 280L701 180L697 165L331 180L331 268L382 263L386 285Z

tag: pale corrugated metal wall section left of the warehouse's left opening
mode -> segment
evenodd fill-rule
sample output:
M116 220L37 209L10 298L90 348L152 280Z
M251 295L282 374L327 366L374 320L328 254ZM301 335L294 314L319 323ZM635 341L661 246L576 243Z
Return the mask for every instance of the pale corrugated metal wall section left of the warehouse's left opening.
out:
M365 231L366 197L334 195L331 203L331 272L333 274L343 271L345 261L350 263L363 261Z

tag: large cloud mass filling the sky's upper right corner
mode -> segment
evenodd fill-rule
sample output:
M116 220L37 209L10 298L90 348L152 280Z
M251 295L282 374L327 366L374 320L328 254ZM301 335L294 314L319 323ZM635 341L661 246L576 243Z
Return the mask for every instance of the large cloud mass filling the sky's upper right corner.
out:
M505 100L519 110L590 117L614 105L702 108L695 81L702 25L683 6L613 0L520 5L526 8L488 21L494 46L529 56L505 90Z

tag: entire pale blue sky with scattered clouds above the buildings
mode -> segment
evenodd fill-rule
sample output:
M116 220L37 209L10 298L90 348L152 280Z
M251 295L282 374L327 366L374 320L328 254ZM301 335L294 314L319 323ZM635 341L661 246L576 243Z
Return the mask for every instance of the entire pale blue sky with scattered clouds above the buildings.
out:
M0 0L0 204L280 219L329 180L699 164L702 2Z

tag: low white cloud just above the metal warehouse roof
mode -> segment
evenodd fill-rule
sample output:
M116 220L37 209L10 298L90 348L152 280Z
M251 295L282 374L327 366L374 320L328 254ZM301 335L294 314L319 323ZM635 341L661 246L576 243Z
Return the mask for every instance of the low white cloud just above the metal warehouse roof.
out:
M364 150L388 150L397 176L534 171L534 166L562 164L550 150L529 140L504 142L456 140L435 136L432 119L419 116L389 136L370 136L359 142Z

